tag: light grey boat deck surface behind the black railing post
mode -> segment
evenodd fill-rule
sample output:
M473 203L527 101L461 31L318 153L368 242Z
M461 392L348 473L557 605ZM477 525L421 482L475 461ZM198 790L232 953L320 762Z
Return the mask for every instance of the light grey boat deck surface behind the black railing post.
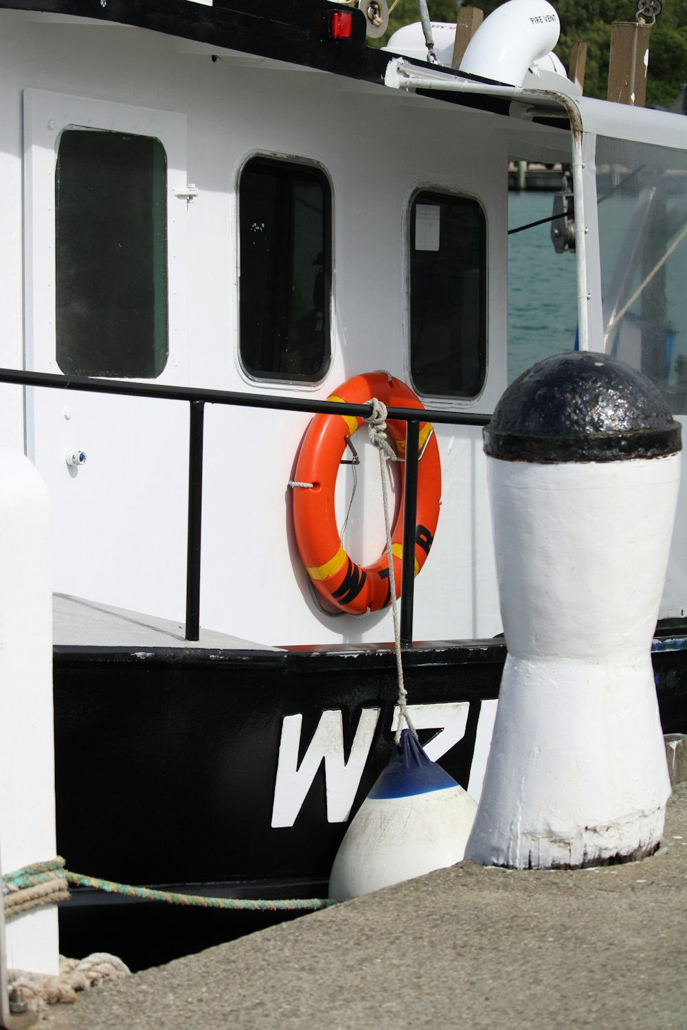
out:
M206 648L212 651L278 651L230 633L200 631L186 641L183 623L141 612L112 608L96 600L56 593L53 597L53 640L66 647Z

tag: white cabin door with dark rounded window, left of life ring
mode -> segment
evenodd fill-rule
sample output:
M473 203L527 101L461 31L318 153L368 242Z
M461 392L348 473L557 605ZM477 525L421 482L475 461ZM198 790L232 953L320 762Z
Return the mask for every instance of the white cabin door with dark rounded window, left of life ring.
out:
M27 369L183 384L185 116L25 91ZM27 388L54 587L180 619L187 405Z

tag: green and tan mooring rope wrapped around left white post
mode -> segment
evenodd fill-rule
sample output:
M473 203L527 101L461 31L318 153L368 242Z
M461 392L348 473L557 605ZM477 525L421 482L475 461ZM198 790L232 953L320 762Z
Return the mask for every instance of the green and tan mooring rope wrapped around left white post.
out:
M91 887L108 894L123 894L146 901L164 901L198 908L229 908L240 912L316 912L335 904L330 898L217 898L203 894L182 894L161 891L152 887L135 887L113 880L101 880L65 869L65 860L58 856L48 862L27 865L2 878L5 916L9 919L22 912L51 904L69 897L69 886Z

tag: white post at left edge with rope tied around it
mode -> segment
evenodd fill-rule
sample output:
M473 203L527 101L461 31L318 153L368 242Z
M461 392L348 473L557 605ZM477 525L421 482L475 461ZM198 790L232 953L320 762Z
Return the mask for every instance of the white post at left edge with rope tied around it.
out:
M49 499L33 465L0 448L0 859L56 855ZM9 968L59 971L55 905L6 924Z

